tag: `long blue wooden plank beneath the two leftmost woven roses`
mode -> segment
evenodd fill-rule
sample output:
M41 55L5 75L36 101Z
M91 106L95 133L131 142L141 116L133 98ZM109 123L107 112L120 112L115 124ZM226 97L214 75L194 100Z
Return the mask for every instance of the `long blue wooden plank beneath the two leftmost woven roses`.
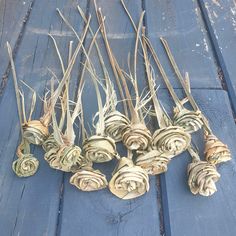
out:
M74 37L62 37L71 34L62 25L55 9L63 9L64 14L76 24L78 32L81 32L84 24L77 17L77 3L78 1L64 0L56 3L40 0L34 3L15 63L18 79L32 86L40 96L44 94L45 86L51 77L47 68L60 75L60 64L47 34L50 32L55 35L64 58L68 53L69 40L75 40ZM80 3L86 8L86 1ZM78 68L77 65L75 75L78 74ZM72 87L75 87L77 77L73 78ZM23 89L26 91L27 101L30 94L25 87ZM35 118L39 118L41 110L42 102L38 99ZM38 147L32 148L33 154L40 160L40 168L35 176L20 179L11 170L19 141L19 124L11 76L0 103L0 121L3 134L0 139L1 235L55 235L63 173L49 168L43 160L43 151Z

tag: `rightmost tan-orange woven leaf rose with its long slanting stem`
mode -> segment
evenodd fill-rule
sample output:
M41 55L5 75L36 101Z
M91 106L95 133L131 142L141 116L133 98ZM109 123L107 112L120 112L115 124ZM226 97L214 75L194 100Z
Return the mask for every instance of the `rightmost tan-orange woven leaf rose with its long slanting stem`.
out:
M186 82L184 80L182 74L180 73L180 70L177 66L177 63L175 62L174 56L171 53L171 50L169 48L167 41L165 39L161 38L161 42L165 48L166 54L168 55L168 58L170 60L170 63L172 65L176 75L177 75L177 78L185 91L188 101L190 102L190 104L193 107L195 112L201 113L197 103L195 102L195 100L191 94L191 90L189 88L188 76L186 76L187 77L187 82ZM219 164L219 163L231 160L231 153L230 153L228 146L225 145L224 143L222 143L213 134L213 132L208 124L207 118L202 113L201 113L200 117L201 117L201 121L203 123L203 128L204 128L204 133L205 133L204 138L205 138L205 159L206 159L206 161L208 161L209 163L212 163L212 164Z

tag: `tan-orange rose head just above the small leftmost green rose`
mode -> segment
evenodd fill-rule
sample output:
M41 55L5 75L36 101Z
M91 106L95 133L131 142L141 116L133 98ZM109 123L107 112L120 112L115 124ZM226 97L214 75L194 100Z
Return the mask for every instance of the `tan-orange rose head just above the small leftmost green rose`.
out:
M48 127L39 120L31 120L22 125L24 138L32 144L41 145L49 136Z

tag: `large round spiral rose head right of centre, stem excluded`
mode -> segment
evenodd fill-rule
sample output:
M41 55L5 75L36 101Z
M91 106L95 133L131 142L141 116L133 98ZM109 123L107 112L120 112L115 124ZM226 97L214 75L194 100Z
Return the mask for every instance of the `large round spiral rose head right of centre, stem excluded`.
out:
M176 156L184 152L191 142L190 134L179 126L168 126L156 130L152 147L167 156Z

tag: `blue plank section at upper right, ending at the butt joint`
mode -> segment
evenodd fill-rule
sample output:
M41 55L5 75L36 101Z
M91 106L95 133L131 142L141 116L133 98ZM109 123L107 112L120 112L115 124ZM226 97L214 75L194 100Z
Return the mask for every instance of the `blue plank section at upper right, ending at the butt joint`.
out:
M215 59L197 1L146 0L144 8L147 34L163 58L163 66L174 87L180 88L166 57L162 57L165 53L160 36L166 37L172 46L180 70L189 72L193 88L220 88Z

